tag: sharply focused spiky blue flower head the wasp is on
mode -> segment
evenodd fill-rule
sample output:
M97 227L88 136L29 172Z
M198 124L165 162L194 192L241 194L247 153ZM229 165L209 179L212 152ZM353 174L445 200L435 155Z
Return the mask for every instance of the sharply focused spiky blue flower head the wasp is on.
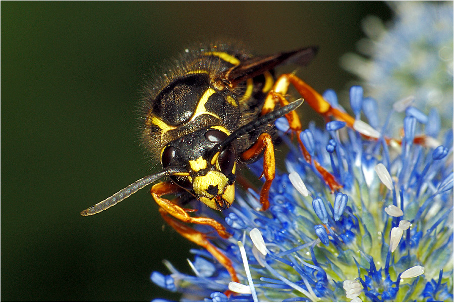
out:
M286 125L284 118L276 121L278 129ZM230 289L243 294L223 293L230 275L204 250L191 250L194 275L166 263L171 274L153 273L152 281L183 299L206 301L452 300L452 130L436 134L440 144L427 138L424 146L415 143L424 127L413 116L401 122L401 144L386 141L386 126L377 140L344 126L311 124L302 132L313 159L344 185L341 191L331 193L279 131L290 152L287 172L271 186L269 210L259 211L259 194L249 189L224 212L233 236L212 234L212 242L243 283ZM262 164L250 169L259 176Z

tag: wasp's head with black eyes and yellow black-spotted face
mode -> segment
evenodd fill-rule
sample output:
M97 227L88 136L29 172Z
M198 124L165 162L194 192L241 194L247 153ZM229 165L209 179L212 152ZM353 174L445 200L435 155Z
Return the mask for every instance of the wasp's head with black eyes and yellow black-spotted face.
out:
M207 127L167 143L161 151L163 168L189 171L189 176L169 178L217 210L230 207L235 196L235 152L229 148L213 152L213 147L229 134L220 126Z

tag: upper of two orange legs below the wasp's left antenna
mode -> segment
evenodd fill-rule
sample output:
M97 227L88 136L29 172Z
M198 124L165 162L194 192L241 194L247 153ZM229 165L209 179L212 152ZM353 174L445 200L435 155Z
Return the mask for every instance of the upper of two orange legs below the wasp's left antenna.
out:
M231 236L230 233L225 231L225 227L222 226L222 224L220 224L216 220L205 217L190 217L183 208L179 207L172 201L169 201L161 197L164 194L178 193L182 191L183 191L182 188L180 188L179 186L170 181L157 183L153 185L153 187L151 187L151 195L153 196L154 200L169 215L172 215L178 220L183 221L185 223L209 225L212 228L214 228L219 234L219 236L221 236L224 239L227 239Z

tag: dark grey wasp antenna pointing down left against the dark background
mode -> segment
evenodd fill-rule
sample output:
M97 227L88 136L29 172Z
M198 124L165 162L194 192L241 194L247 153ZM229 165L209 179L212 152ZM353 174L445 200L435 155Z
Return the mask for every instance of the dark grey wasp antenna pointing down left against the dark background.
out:
M137 180L133 184L123 188L119 192L113 194L112 196L108 197L105 200L100 201L98 204L93 205L92 207L89 207L88 209L82 211L80 214L82 216L91 216L97 213L100 213L109 207L112 207L116 205L117 203L123 201L136 191L144 188L145 186L153 183L154 181L168 175L173 175L173 174L182 174L186 173L186 170L181 169L181 168L176 168L176 167L168 167L166 170L149 175L146 177L143 177L142 179Z

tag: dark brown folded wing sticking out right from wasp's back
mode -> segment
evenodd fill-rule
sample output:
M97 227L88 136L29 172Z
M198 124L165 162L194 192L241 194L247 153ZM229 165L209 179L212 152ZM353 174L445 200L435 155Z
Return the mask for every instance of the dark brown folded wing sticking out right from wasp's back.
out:
M235 87L239 83L263 74L282 63L307 65L317 54L318 47L310 46L292 52L284 52L271 56L258 56L241 62L225 72L224 80Z

